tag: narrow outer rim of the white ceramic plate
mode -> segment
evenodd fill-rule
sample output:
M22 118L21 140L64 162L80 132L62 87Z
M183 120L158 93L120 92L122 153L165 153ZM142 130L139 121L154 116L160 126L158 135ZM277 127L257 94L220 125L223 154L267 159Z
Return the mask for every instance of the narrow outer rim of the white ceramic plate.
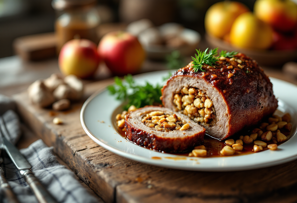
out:
M166 70L168 72L168 70ZM165 72L164 70L161 70L161 71L154 71L154 72ZM149 73L152 73L152 72L149 72ZM142 74L137 74L133 77L141 77L142 75L144 74L147 74L147 73L142 73ZM273 80L279 80L281 82L285 82L287 83L287 85L293 85L297 88L297 85L293 84L293 83L289 83L287 81L284 81L284 80L280 80L280 79L277 79L277 78L274 78L274 77L269 77L269 78L272 78ZM279 164L284 164L284 163L287 163L287 162L290 162L290 161L293 161L293 160L296 160L297 159L297 154L296 155L292 155L292 156L289 156L285 159L283 158L279 158L277 160L274 160L274 161L269 161L269 162L266 162L264 164L261 164L260 167L257 167L258 164L248 164L248 165L244 165L244 166L239 166L239 167L236 167L234 168L234 166L225 166L225 167L217 167L217 168L214 168L213 166L211 167L197 167L197 168L189 168L189 167L183 167L183 166L180 166L180 165L171 165L171 164L167 164L166 166L164 164L162 164L162 159L161 160L153 160L151 158L147 158L147 157L143 157L143 156L139 156L139 155L135 155L135 154L132 154L132 153L129 153L129 152L125 152L125 151L122 151L122 150L119 150L119 149L116 149L116 148L113 148L112 146L109 146L107 144L105 144L104 142L101 142L99 139L97 139L92 133L91 131L87 128L86 126L86 123L84 121L84 118L83 118L83 115L84 115L84 112L85 112L85 109L87 107L87 105L89 104L89 102L94 99L96 96L98 96L100 93L104 92L104 91L107 91L106 89L106 86L105 87L102 87L100 88L99 90L97 90L96 92L94 92L88 99L86 99L86 101L84 102L81 110L80 110L80 122L81 122L81 125L84 129L84 131L86 132L86 134L94 141L96 142L98 145L102 146L103 148L119 155L119 156L122 156L124 158L129 158L131 160L134 160L134 161L138 161L140 163L145 163L145 164L150 164L150 165L154 165L154 166L159 166L159 167L164 167L164 168L171 168L171 169L181 169L181 170L188 170L188 171L213 171L213 172L227 172L227 171L243 171L243 170L251 170L251 169L259 169L259 168L266 168L266 167L270 167L270 166L276 166L276 165L279 165ZM284 102L285 103L285 102ZM287 103L285 103L286 105L288 105ZM288 105L291 109L294 110L294 108L292 108L290 105ZM294 110L294 113L295 115L297 116L297 112L296 110ZM297 132L297 128L295 129L295 131L293 132L293 135L295 135ZM117 133L118 134L118 133ZM148 149L149 150L149 149ZM125 156L123 156L122 154L124 154ZM176 155L178 156L178 155ZM245 155L243 155L245 156ZM178 157L184 157L184 156L178 156ZM197 157L195 157L197 158ZM211 158L211 157L210 157ZM227 158L227 157L226 157ZM199 159L201 158L198 158L197 161L199 161Z

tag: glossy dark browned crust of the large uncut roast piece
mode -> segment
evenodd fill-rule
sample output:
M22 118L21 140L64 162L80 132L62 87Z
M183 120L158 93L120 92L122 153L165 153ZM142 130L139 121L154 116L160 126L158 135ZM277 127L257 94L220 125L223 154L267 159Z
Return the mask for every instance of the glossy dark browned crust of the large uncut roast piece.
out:
M228 128L224 135L216 136L221 140L245 127L255 125L263 117L272 114L277 108L277 100L273 95L270 80L255 60L242 53L238 53L236 57L241 59L243 69L238 67L238 62L230 61L230 58L226 61L217 61L212 69L204 67L205 72L193 72L193 64L179 69L162 88L164 106L169 107L166 103L168 98L164 96L168 84L177 77L189 77L203 80L211 85L214 91L219 93L221 102L226 104ZM233 66L233 69L228 69L228 66ZM228 78L229 73L232 73L233 77ZM216 109L215 106L214 108Z

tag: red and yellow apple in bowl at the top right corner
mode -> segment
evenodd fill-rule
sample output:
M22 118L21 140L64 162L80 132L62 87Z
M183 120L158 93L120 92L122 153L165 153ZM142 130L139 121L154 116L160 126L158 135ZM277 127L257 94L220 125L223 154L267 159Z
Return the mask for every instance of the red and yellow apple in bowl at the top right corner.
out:
M278 31L291 31L297 24L297 5L290 0L257 0L254 13Z

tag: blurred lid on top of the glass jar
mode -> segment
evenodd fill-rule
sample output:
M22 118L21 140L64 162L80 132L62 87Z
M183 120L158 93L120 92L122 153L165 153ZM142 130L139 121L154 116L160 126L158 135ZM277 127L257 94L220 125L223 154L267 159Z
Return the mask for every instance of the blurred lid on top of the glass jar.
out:
M55 10L78 9L94 6L97 0L53 0L52 7Z

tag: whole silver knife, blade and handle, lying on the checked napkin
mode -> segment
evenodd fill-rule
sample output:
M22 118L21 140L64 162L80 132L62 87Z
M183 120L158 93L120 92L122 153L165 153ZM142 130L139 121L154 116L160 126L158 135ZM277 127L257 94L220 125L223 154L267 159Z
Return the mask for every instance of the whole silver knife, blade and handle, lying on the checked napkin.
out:
M23 176L24 180L28 183L32 191L34 192L38 202L40 203L56 203L57 201L53 196L48 193L45 187L40 183L40 181L34 176L31 171L32 166L23 157L19 150L10 143L6 137L9 136L9 132L6 128L5 121L0 116L0 146L5 149L11 161L15 164L20 174Z

